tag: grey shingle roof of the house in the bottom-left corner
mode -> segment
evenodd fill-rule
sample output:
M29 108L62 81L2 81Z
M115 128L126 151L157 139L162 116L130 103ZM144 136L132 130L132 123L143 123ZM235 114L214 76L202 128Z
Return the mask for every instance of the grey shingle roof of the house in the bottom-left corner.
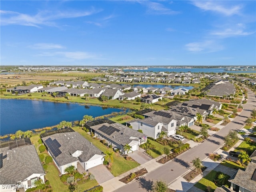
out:
M8 147L0 148L0 153L3 157L6 155L0 169L0 184L17 184L34 173L45 174L34 145L12 150L8 150Z

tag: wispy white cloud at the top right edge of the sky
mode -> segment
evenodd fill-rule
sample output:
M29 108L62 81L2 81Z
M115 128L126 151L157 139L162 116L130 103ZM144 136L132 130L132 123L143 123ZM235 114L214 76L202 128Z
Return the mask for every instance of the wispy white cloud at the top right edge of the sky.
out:
M192 2L194 6L197 6L202 10L218 12L226 16L240 14L241 9L243 8L242 5L225 7L222 3L223 1L193 1Z

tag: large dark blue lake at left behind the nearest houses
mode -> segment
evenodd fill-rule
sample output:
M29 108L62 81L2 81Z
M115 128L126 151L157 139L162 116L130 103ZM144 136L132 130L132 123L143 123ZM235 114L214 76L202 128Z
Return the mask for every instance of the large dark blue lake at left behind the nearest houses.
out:
M0 135L54 126L61 121L82 120L84 115L96 117L122 111L100 106L16 99L0 99L0 109Z

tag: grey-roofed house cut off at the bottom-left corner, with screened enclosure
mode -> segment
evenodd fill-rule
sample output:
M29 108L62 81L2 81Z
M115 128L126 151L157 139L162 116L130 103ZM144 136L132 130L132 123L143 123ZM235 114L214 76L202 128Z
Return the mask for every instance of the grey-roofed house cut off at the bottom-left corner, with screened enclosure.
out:
M26 191L44 183L44 168L29 138L0 142L0 191Z

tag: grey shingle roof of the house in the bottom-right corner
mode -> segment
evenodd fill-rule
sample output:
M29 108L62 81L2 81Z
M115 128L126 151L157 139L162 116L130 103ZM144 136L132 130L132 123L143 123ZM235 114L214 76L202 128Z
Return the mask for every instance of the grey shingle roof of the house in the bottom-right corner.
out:
M252 180L252 175L256 170L255 163L249 163L246 170L238 170L228 181L241 186L249 191L256 192L256 181Z

